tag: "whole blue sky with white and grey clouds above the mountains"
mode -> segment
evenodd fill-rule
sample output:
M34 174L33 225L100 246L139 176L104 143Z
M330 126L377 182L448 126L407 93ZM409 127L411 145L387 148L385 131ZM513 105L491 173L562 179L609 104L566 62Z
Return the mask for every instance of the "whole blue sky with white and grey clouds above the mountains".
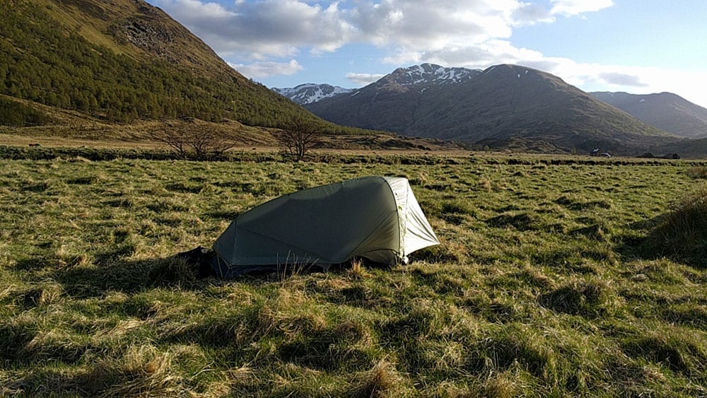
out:
M706 0L147 0L268 87L518 64L707 107Z

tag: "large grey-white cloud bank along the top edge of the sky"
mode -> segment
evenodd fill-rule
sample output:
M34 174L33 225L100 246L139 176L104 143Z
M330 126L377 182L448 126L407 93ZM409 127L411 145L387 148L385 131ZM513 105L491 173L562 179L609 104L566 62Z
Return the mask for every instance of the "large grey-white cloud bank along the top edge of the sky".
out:
M508 38L514 26L551 22L554 13L598 7L580 0L554 0L552 10L519 0L239 0L230 8L153 1L219 54L252 59L291 57L300 49L333 52L348 43L407 52L462 47Z

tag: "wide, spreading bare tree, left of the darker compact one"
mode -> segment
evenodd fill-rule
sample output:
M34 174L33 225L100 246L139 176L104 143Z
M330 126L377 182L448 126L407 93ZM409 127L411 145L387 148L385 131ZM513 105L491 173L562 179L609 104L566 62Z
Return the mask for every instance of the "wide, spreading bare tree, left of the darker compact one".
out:
M154 130L148 133L148 137L165 144L177 153L177 156L187 160L218 158L234 146L228 134L201 126Z

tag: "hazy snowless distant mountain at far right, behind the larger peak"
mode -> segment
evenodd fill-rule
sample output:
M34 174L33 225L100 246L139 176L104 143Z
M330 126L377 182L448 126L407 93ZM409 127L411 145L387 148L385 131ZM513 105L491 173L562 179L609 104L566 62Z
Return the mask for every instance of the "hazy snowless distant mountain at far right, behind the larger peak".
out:
M707 109L672 93L590 93L641 121L686 138L707 137Z

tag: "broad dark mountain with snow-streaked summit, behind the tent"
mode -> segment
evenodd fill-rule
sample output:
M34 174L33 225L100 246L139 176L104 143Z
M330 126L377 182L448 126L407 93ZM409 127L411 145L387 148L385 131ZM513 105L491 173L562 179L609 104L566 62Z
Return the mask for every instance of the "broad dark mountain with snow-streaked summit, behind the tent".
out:
M305 107L338 124L489 146L542 141L563 151L598 146L635 153L677 139L536 69L453 70L438 73L443 69L429 64L396 69Z

